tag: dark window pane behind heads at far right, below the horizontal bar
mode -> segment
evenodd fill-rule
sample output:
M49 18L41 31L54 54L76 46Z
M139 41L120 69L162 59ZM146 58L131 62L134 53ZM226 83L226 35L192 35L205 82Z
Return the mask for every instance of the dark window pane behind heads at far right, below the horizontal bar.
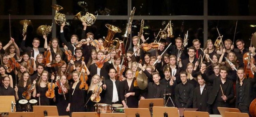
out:
M226 39L233 41L236 27L235 41L242 39L245 42L245 47L249 47L249 38L255 32L255 27L251 27L250 25L255 26L255 22L255 20L238 20L236 27L236 20L208 20L208 39L213 41L217 39L219 35L216 27L218 27L220 34L223 35L223 41Z

